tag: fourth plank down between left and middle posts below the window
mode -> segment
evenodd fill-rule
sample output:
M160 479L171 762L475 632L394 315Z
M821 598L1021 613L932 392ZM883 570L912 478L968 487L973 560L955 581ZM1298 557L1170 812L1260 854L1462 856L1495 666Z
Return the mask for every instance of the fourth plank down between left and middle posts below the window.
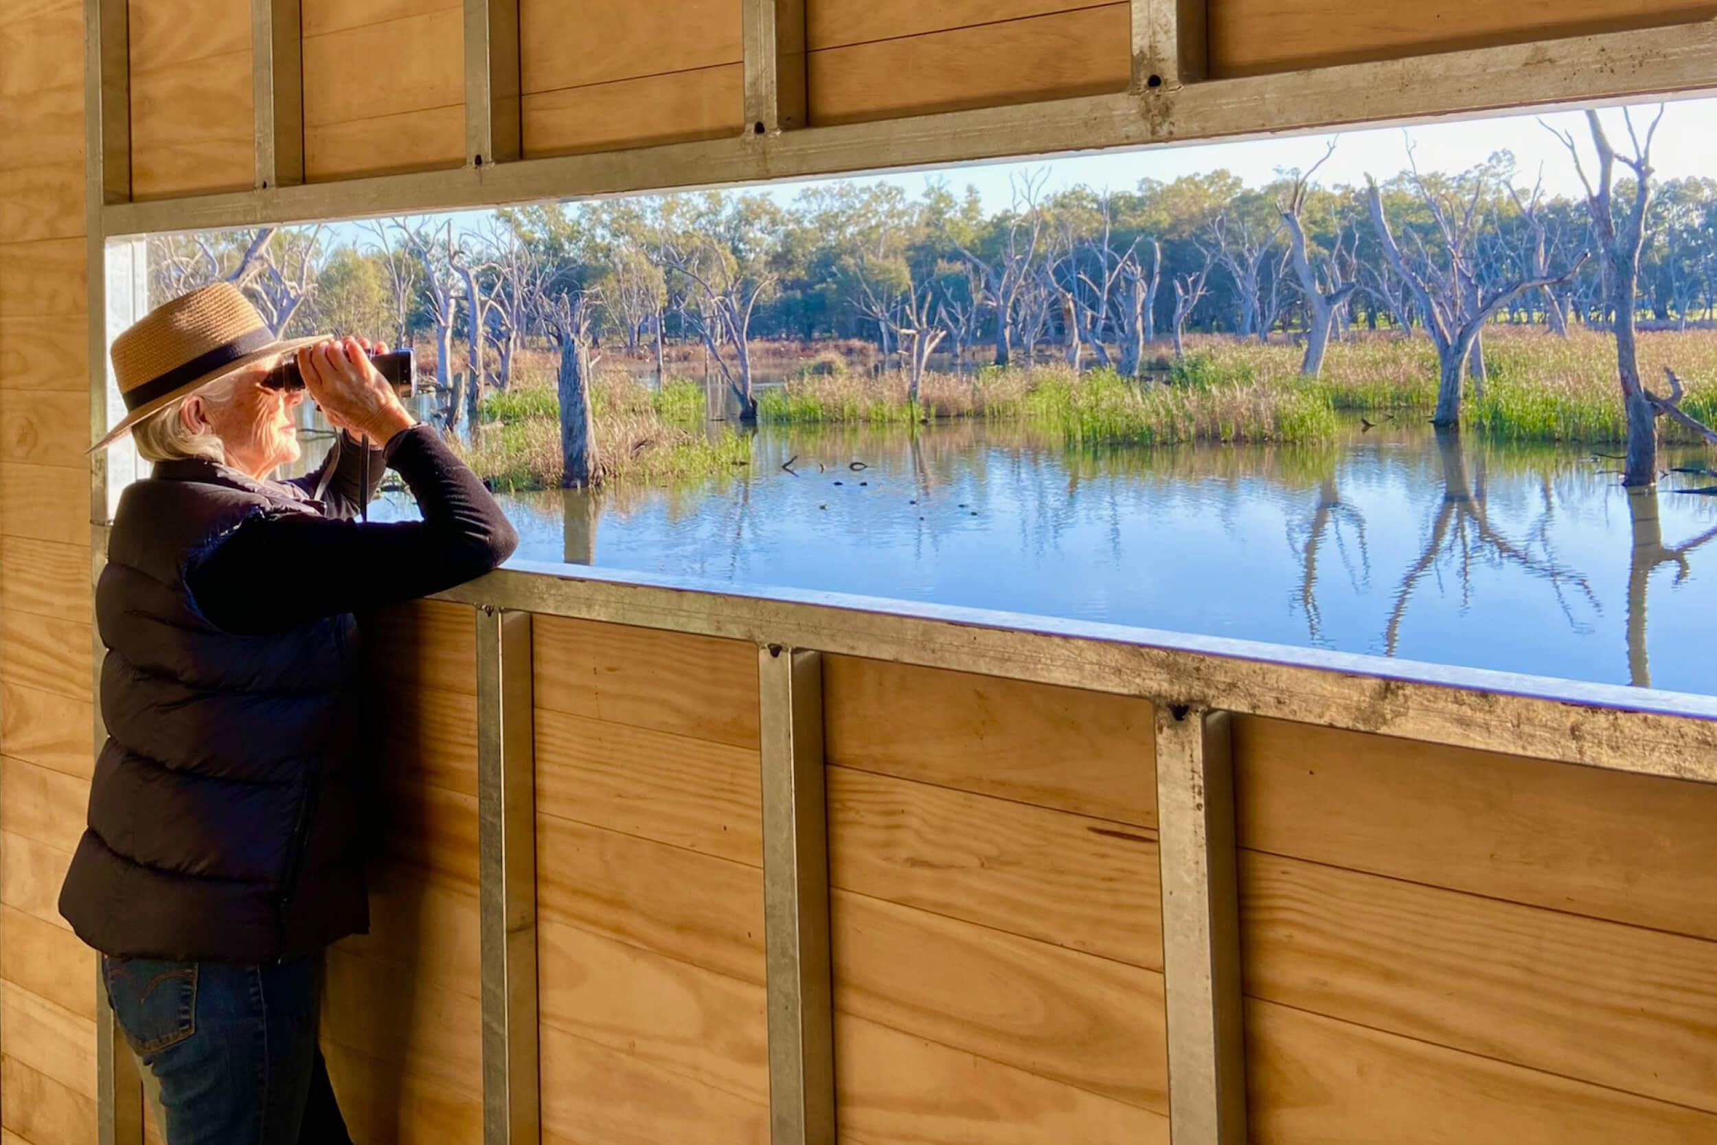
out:
M543 920L537 1006L543 1025L735 1097L769 1100L761 985Z

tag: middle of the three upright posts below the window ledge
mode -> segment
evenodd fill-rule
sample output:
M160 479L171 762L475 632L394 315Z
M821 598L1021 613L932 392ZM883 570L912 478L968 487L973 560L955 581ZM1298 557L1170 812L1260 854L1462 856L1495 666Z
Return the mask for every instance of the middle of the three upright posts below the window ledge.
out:
M822 661L757 649L771 1145L834 1145Z

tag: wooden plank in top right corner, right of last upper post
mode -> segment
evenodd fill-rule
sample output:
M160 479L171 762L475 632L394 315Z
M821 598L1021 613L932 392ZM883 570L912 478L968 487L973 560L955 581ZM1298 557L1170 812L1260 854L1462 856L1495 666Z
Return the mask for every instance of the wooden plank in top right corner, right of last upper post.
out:
M1209 12L1214 76L1259 76L1501 43L1554 39L1710 19L1690 0L1435 0L1339 5L1331 0L1217 0Z

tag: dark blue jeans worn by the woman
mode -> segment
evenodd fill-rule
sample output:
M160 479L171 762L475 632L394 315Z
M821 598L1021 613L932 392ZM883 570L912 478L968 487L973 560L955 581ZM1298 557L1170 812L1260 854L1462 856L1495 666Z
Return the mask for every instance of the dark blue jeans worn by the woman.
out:
M321 956L263 966L101 956L161 1090L168 1145L350 1145L316 1047Z

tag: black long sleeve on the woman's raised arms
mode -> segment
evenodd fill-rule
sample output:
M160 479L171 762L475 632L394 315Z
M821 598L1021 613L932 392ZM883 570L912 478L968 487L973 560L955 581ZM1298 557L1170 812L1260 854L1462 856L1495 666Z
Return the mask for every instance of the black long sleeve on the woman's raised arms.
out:
M319 616L355 613L481 577L519 546L489 491L429 426L402 429L385 450L342 439L323 493L325 515L254 517L187 575L209 623L239 635L283 632ZM422 520L357 522L391 467L417 498ZM299 477L316 493L323 472Z

